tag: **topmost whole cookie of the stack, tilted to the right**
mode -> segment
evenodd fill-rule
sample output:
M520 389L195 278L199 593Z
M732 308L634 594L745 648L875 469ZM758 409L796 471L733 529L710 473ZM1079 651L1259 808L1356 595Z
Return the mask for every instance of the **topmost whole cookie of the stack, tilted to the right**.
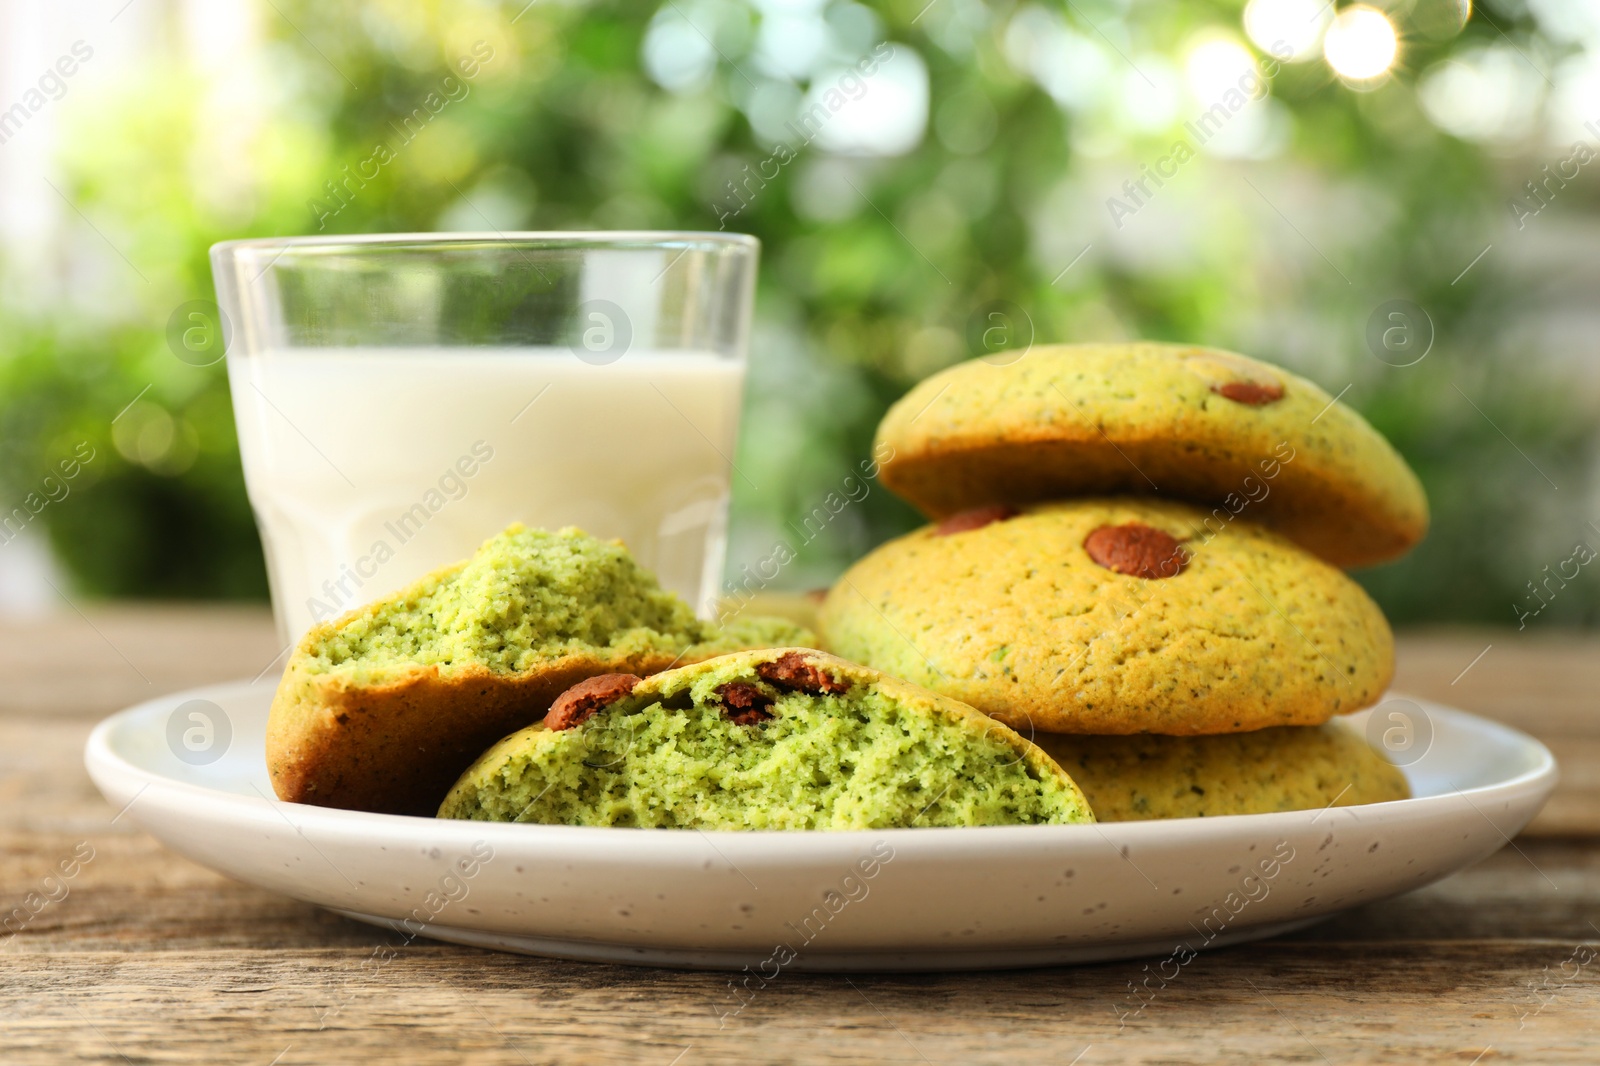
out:
M995 357L987 357L995 359ZM1366 419L1277 367L1182 344L1056 344L950 367L878 426L883 483L941 519L1139 493L1237 515L1338 567L1397 559L1427 498Z

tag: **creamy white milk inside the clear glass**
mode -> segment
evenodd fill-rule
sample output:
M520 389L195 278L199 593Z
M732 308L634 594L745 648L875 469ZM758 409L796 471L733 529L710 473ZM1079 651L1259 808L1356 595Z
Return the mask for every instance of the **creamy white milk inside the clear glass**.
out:
M512 522L622 538L701 613L715 602L741 360L362 347L227 370L285 642Z

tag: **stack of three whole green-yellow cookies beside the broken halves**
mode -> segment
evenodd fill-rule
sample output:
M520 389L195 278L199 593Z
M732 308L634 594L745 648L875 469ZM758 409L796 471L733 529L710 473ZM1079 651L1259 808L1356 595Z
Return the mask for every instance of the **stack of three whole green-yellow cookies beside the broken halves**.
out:
M933 525L834 586L829 651L1029 736L1102 821L1406 795L1333 719L1394 675L1344 568L1421 541L1427 501L1310 381L1203 347L1035 347L923 381L875 453Z

